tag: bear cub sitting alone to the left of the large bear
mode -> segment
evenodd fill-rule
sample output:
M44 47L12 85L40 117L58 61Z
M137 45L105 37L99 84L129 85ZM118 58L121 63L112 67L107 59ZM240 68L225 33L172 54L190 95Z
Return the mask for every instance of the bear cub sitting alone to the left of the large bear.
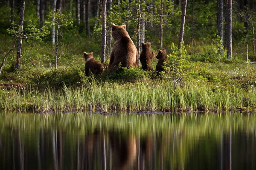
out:
M84 59L85 59L85 75L88 76L89 69L92 71L93 74L102 74L104 72L104 66L102 63L96 61L93 58L93 52L86 53L84 52Z

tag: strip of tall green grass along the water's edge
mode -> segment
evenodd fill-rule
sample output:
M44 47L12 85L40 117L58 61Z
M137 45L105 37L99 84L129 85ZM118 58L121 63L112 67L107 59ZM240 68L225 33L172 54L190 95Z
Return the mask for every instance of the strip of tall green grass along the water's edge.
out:
M176 91L171 81L92 82L55 91L20 89L0 92L3 111L235 111L256 109L256 88L218 87L189 82Z

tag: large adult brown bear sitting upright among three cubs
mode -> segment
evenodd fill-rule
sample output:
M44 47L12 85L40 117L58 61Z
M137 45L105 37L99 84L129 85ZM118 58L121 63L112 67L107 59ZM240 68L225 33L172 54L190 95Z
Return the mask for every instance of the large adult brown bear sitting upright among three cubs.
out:
M122 24L122 26L116 26L112 23L111 26L112 37L115 42L111 51L108 69L113 70L118 68L120 62L122 67L138 66L137 61L139 59L139 54L126 31L126 25Z

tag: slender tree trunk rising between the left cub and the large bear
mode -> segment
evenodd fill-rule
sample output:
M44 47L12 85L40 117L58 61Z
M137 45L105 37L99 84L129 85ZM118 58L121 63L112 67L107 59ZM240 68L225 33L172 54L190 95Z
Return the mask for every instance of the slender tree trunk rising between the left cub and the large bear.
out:
M102 50L101 50L101 62L105 62L106 54L106 37L107 37L107 28L106 28L106 6L107 0L103 0L102 4Z

